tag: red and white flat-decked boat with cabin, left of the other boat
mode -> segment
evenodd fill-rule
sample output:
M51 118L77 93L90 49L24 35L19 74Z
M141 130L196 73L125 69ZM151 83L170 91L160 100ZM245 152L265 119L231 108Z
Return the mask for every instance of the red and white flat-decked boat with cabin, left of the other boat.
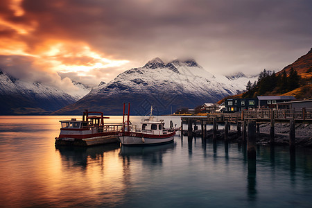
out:
M60 121L60 135L55 137L55 146L94 146L119 142L121 123L105 124L103 112L83 112L83 120Z

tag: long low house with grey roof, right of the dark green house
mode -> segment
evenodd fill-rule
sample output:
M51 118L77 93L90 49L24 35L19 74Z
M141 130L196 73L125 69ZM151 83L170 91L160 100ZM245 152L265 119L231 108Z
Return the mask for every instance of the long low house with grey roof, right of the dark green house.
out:
M277 103L295 100L294 96L258 96L259 108L275 108Z

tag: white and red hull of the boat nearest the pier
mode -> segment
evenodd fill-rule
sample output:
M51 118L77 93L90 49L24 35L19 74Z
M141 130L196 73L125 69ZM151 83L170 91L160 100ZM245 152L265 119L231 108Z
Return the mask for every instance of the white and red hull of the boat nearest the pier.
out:
M173 141L175 132L168 135L148 135L138 132L123 132L119 135L121 144L126 146L157 145Z

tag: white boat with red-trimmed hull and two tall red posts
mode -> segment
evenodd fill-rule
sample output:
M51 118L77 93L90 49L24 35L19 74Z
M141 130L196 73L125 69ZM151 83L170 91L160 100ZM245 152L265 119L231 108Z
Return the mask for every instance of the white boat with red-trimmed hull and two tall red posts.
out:
M125 103L123 103L123 128L119 132L119 140L125 146L157 145L172 142L175 131L170 132L164 128L164 120L155 120L153 106L150 108L148 119L141 121L140 129L130 122L130 103L128 103L128 114L125 114ZM125 121L125 116L127 120Z

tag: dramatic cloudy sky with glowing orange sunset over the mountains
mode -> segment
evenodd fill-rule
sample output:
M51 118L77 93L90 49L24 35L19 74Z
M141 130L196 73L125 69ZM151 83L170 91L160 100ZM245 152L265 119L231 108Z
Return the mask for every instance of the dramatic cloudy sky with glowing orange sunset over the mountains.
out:
M1 0L0 67L64 89L155 57L279 71L312 47L310 0Z

